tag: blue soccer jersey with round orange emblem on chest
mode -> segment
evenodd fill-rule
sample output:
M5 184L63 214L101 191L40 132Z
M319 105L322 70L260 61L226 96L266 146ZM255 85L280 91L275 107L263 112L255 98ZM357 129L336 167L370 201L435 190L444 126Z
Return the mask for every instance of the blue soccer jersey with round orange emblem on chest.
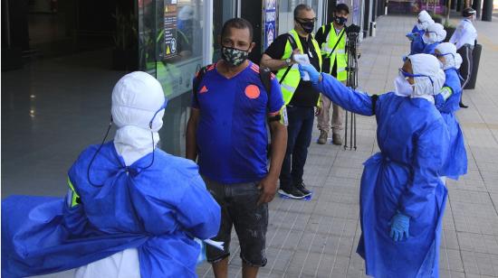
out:
M200 111L196 142L202 175L222 183L259 181L266 176L266 119L283 107L273 74L271 84L267 94L259 67L252 62L231 79L215 65L208 67L192 97L192 107Z

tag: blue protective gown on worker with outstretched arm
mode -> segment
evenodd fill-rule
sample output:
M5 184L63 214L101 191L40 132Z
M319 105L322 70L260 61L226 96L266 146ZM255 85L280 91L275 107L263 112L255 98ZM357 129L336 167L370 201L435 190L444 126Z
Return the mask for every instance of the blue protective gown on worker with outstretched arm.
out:
M436 107L423 98L387 93L373 98L322 74L321 92L333 103L376 116L380 153L364 163L360 187L362 235L357 252L374 277L437 277L447 190L438 170L449 141ZM395 242L389 221L397 210L410 218L409 238Z

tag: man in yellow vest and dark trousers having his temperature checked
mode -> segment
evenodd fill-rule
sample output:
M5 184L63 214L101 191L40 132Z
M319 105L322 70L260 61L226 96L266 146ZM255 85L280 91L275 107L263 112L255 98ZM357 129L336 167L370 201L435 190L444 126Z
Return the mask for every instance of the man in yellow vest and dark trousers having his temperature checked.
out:
M302 175L311 144L314 107L319 105L320 92L312 88L310 81L301 79L293 55L306 54L311 65L321 70L320 46L311 35L315 22L315 13L309 5L297 5L294 9L294 29L278 36L261 59L262 66L276 73L287 109L287 151L280 174L279 193L292 199L311 195L302 181Z

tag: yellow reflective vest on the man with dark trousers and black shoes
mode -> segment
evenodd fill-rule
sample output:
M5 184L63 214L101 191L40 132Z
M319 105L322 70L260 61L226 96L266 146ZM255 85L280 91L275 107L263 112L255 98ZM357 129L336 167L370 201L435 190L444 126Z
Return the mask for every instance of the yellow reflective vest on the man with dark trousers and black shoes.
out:
M292 35L292 38L296 42L298 49L302 53L304 53L304 51L302 49L301 40L299 39L298 33L295 30L291 30L289 32L289 34ZM311 34L310 34L310 36L311 36ZM320 46L318 45L318 42L316 42L312 36L311 36L311 42L313 43L313 47L315 49L315 52L317 53L320 68L321 68L321 55L319 54L321 52ZM287 43L285 43L285 50L283 51L282 59L285 60L287 58L291 58L292 51L293 50L292 50L291 42L289 42L289 40L287 40ZM286 70L287 70L287 67L278 70L277 74L276 74L277 79L281 80L283 78L283 74L285 73ZM289 70L289 72L287 73L287 75L285 76L285 79L283 79L283 82L281 84L281 89L282 89L282 94L283 94L283 102L285 103L285 105L288 105L289 102L291 102L292 96L293 96L296 88L298 87L300 80L301 80L301 75L299 73L298 65L293 64L291 70ZM320 99L318 102L320 104Z

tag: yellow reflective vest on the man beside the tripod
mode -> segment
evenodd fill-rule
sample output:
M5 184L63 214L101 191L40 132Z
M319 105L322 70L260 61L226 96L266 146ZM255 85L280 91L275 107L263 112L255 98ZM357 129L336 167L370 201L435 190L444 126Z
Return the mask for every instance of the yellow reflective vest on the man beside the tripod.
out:
M325 32L326 25L321 26L321 29L323 32ZM325 42L321 44L321 56L323 58L330 58L330 72L327 72L329 74L332 73L332 69L334 67L334 64L337 61L337 77L336 79L340 81L344 81L348 79L348 72L346 71L346 67L348 66L348 54L346 53L346 34L344 33L342 35L342 38L340 38L340 35L346 32L346 28L342 28L342 30L339 33L335 32L334 25L330 23L330 32L327 34L327 39ZM335 44L340 38L340 42L336 46L335 50L331 53L332 49L334 48Z

